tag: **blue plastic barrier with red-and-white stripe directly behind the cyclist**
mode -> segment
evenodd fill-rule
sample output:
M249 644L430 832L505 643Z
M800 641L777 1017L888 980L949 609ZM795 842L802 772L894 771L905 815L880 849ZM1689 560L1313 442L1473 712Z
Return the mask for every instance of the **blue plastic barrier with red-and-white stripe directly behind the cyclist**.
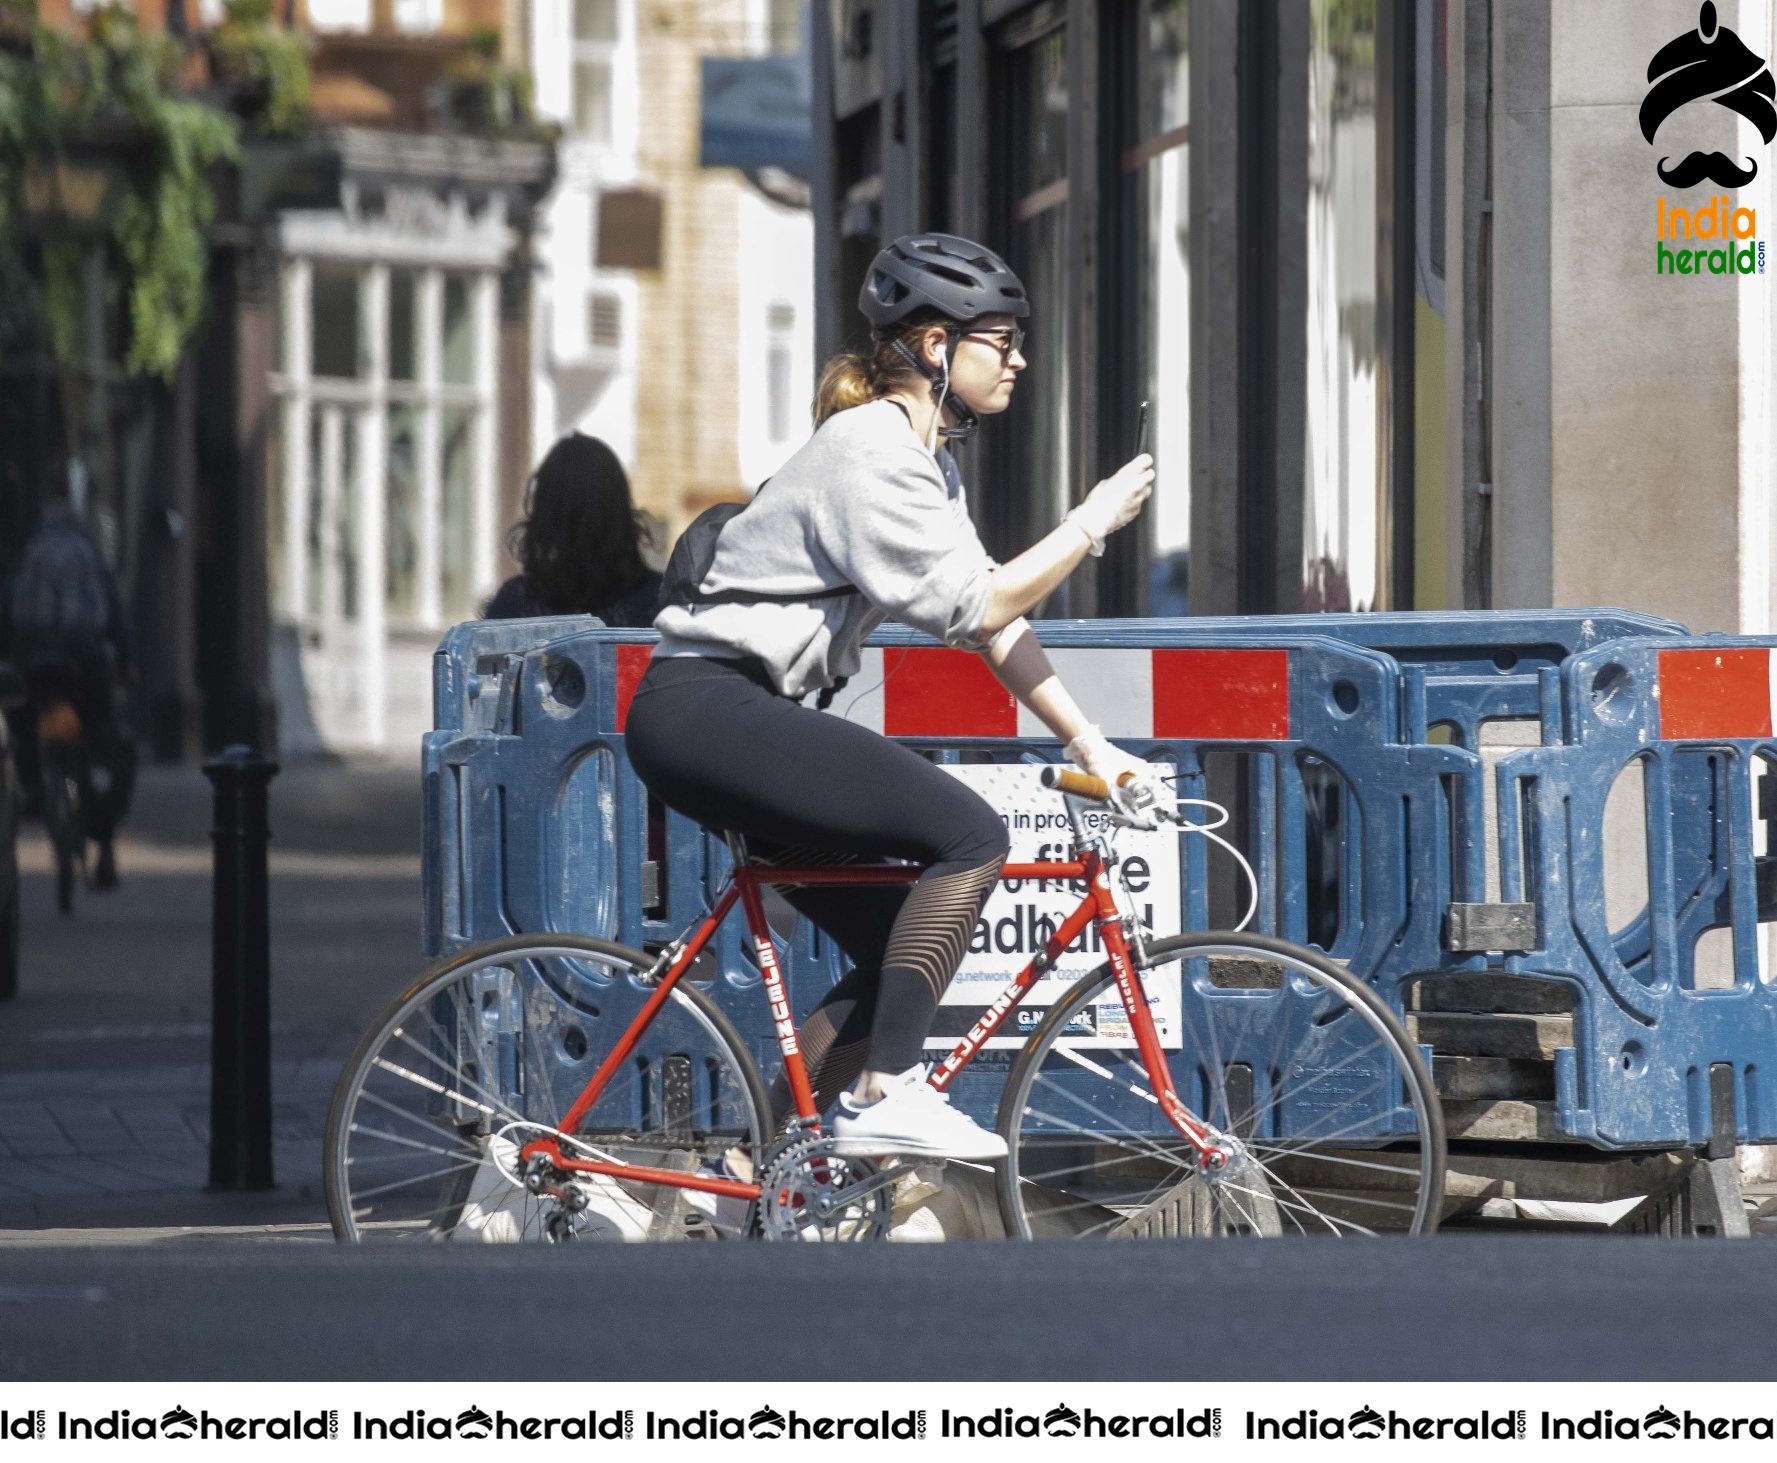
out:
M1446 963L1438 944L1445 905L1439 891L1452 887L1445 779L1468 773L1471 754L1398 739L1400 674L1391 658L1324 636L1276 635L1255 645L1251 628L1240 629L1240 635L1203 631L1192 620L1041 626L1057 660L1075 658L1073 670L1080 667L1080 652L1121 656L1125 668L1157 668L1144 688L1155 708L1150 734L1120 739L1134 752L1173 761L1183 779L1182 791L1207 791L1205 757L1235 754L1246 761L1247 853L1263 891L1258 928L1310 939L1306 891L1311 860L1322 851L1311 848L1308 802L1315 779L1322 786L1336 780L1343 798L1336 917L1324 944L1398 1008L1406 979ZM501 629L490 640L483 626L464 626L441 651L444 725L426 739L434 807L428 949L442 953L515 930L574 930L657 946L704 912L727 853L720 841L675 814L665 816L656 846L647 846L647 796L627 768L622 718L652 636L578 629L521 654L512 635ZM880 699L883 706L915 708L908 715L919 715L922 676L944 667L951 670L942 674L963 667L984 674L974 656L944 651L910 633L885 633L873 644L885 663L894 660L894 679ZM1247 667L1255 652L1276 658L1279 725L1260 718L1244 727L1226 724L1194 732L1176 720L1185 715L1176 708L1162 715L1169 668L1214 676L1217 663L1201 660L1203 654L1235 656L1237 665ZM912 663L922 668L906 670ZM1070 681L1077 679L1073 670ZM853 686L851 700L835 711L848 706L857 711L871 693L867 684ZM1215 708L1228 704L1224 695L1207 700ZM945 695L947 713L952 704L954 697ZM908 739L951 761L1052 761L1059 750L1047 732L945 736L940 729ZM1203 843L1187 839L1178 891L1187 930L1210 928L1205 860ZM841 972L837 953L807 926L796 928L782 958L798 1010L807 1010ZM1466 955L1455 963L1471 969L1478 958ZM771 1070L777 1049L764 1003L752 990L759 974L737 923L723 930L707 974L761 1065ZM1230 997L1205 978L1187 999ZM629 1008L611 997L602 1004L610 1017ZM990 1116L999 1097L1002 1074L993 1070L1000 1065L995 1058L1000 1054L986 1054L952 1088L958 1102L979 1116ZM1224 1054L1224 1059L1237 1058ZM1370 1116L1377 1136L1395 1122L1381 1109Z

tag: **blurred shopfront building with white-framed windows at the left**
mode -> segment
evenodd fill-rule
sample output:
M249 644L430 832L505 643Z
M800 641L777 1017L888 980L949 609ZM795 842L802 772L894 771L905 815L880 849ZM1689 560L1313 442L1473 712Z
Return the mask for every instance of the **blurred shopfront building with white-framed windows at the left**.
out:
M432 649L498 585L531 457L528 240L554 149L517 75L530 7L279 0L307 92L275 132L219 69L220 0L128 9L240 124L204 316L169 380L131 377L114 249L87 229L80 370L9 325L5 521L21 537L64 478L78 489L155 754L418 748ZM44 0L41 18L78 32L94 11ZM116 164L82 148L64 171L103 181Z

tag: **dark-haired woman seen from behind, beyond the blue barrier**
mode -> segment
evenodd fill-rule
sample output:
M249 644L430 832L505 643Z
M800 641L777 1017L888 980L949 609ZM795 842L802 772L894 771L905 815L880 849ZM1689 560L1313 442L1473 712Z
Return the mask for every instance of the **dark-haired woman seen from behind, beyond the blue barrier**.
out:
M659 612L661 576L641 562L641 535L617 453L570 432L526 487L524 521L506 540L524 572L499 587L485 619L597 615L647 629Z

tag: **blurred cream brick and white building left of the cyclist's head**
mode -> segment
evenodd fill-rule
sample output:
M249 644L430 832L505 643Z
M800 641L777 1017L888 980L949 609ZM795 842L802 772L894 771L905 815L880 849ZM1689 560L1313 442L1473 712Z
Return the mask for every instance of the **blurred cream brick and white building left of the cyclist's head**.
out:
M537 236L535 418L608 441L665 556L807 434L814 229L794 185L700 156L705 57L794 53L800 0L531 7L537 107L562 126Z

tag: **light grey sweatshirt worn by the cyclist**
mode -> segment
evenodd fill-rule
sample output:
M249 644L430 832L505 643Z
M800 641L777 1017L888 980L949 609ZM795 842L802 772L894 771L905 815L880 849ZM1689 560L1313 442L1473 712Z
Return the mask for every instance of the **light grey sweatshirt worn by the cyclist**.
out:
M830 416L723 524L702 585L860 594L668 606L654 654L757 656L784 695L803 697L855 674L864 636L885 619L983 649L992 571L951 453L926 452L894 402L871 402Z

